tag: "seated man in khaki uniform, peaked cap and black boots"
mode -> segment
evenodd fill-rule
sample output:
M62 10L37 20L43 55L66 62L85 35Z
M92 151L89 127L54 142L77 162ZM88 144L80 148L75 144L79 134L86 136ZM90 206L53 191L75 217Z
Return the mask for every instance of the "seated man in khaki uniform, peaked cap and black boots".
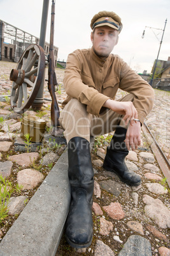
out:
M117 55L111 54L122 30L120 17L101 11L92 18L92 48L76 50L67 59L64 87L67 99L60 114L68 148L71 206L66 239L76 248L92 242L93 168L90 136L115 131L103 167L128 185L141 178L129 171L124 159L141 143L141 125L153 105L153 89ZM115 101L118 88L129 92Z

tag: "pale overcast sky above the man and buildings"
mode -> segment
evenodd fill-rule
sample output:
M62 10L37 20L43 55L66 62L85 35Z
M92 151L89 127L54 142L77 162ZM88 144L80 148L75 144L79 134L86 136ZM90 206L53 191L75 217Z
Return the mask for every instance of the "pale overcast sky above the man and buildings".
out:
M46 41L50 42L51 5L49 1ZM36 37L40 36L43 0L0 0L0 19ZM59 47L58 59L80 48L90 48L90 21L99 11L114 11L122 18L123 29L118 54L137 73L150 73L157 59L170 57L169 0L55 0L54 45ZM145 38L141 38L145 29Z

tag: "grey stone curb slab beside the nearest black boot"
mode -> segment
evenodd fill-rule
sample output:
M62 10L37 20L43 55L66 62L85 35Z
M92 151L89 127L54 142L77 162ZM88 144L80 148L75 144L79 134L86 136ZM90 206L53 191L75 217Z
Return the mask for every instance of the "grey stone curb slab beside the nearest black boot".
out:
M54 256L71 199L67 151L46 176L0 244L1 256Z

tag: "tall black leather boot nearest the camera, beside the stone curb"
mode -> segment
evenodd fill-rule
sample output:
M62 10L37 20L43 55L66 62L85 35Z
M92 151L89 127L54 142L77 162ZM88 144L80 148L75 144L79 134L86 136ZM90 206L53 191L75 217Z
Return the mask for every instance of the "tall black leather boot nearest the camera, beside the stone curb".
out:
M75 248L85 248L92 243L92 196L94 171L87 139L74 137L68 145L69 182L71 206L66 221L66 239Z

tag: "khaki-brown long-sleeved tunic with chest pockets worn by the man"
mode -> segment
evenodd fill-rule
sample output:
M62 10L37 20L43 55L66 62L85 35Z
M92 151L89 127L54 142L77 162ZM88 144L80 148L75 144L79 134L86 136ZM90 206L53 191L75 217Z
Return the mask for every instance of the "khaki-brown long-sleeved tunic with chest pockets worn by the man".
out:
M107 99L115 99L118 88L134 94L133 104L141 123L153 106L153 89L141 76L118 55L110 54L107 59L101 59L93 48L69 54L64 88L68 96L62 106L76 98L87 105L87 112L92 115L100 115L103 104Z

